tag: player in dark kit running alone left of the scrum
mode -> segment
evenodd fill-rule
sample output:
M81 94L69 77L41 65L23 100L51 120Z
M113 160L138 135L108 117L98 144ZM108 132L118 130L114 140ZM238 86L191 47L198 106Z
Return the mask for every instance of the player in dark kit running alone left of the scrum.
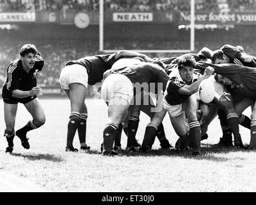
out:
M2 92L6 124L5 136L8 142L6 152L13 151L15 135L21 139L21 144L25 149L30 149L26 133L41 127L46 120L44 110L37 98L37 95L41 94L41 88L37 86L36 76L43 66L44 60L33 44L23 45L20 59L13 61L8 66ZM24 104L33 120L30 120L26 126L15 133L15 117L19 102Z

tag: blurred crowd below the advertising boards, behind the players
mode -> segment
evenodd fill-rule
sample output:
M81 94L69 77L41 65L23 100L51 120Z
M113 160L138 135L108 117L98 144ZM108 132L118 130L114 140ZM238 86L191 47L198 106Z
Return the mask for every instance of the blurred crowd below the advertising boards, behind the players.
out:
M19 58L19 49L21 46L28 42L0 42L0 83L3 85L6 78L6 68L8 64ZM59 87L59 75L60 70L64 67L65 63L69 60L76 60L84 56L93 56L98 54L98 45L93 42L33 42L39 49L39 52L44 58L44 69L39 72L38 84L39 86L55 86ZM165 48L162 45L161 49L186 49L188 48L188 42L162 42L165 44ZM230 43L236 45L237 43ZM156 42L155 44L149 42L126 42L120 44L118 47L111 47L114 44L109 42L105 44L108 49L159 49L161 44ZM130 47L129 47L130 46ZM202 47L208 47L210 49L217 49L222 46L222 43L217 42L196 42L196 49L199 51ZM242 43L242 46L249 54L254 54L253 46L251 44ZM196 51L197 52L197 51ZM163 58L170 57L171 54L167 53L149 53L147 54L151 58ZM172 54L172 56L179 56L179 54Z

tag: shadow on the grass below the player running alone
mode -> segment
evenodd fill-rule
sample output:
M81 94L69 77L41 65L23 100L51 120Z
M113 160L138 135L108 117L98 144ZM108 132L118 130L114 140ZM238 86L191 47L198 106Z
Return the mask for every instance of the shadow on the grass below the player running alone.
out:
M18 156L18 157L23 157L28 160L47 160L47 161L64 161L63 158L59 156L55 156L54 154L18 154L18 153L12 153L12 156Z

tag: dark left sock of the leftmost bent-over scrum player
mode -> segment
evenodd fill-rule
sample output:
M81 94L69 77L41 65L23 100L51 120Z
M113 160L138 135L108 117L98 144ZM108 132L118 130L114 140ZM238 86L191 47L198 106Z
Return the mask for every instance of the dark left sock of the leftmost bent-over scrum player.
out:
M80 113L73 112L69 115L67 147L73 148L73 140L80 122Z

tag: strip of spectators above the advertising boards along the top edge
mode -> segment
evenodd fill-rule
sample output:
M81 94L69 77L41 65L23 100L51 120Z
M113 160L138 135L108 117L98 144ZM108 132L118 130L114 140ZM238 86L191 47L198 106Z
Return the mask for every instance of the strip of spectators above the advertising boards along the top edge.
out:
M105 9L111 11L189 11L190 0L104 0ZM85 10L98 11L98 0L0 0L0 12L26 11L33 4L35 11ZM256 0L195 0L196 11L212 12L222 9L235 12L252 11Z

